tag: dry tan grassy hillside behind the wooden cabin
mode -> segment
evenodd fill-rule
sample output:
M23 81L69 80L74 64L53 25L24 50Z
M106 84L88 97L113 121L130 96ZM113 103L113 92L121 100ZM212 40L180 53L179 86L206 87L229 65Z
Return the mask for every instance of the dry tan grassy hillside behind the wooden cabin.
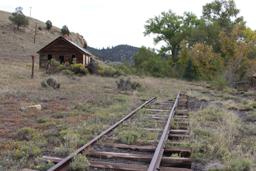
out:
M11 21L8 19L9 16L12 16L11 12L0 11L0 61L31 63L31 56L35 56L35 63L39 64L39 54L37 54L37 51L54 41L57 37L62 36L60 28L52 26L51 30L47 30L45 22L32 17L29 18L29 26L21 27L17 31L17 26L11 24ZM36 41L34 43L36 23L37 27L41 26L42 31L37 29ZM71 32L68 39L80 47L87 43L80 34L75 32ZM95 57L94 60L107 67L106 64Z

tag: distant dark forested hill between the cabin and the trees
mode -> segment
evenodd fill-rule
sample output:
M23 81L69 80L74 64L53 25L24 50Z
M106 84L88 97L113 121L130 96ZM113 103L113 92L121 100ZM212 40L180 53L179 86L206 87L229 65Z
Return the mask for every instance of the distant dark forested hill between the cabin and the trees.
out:
M99 57L101 61L127 61L129 63L133 60L134 55L139 52L139 47L129 46L127 44L118 45L112 48L108 47L107 49L94 49L93 47L88 46L86 49Z

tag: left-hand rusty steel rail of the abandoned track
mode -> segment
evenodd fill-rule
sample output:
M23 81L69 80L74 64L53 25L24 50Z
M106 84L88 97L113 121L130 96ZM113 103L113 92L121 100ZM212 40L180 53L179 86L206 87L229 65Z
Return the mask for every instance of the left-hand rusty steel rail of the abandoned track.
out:
M144 105L149 104L150 102L152 102L153 100L155 100L155 97L153 97L152 99L146 101L144 104L140 105L140 107L138 107L137 109L135 109L134 111L130 112L129 115L126 115L126 117L124 117L123 119L119 120L119 122L117 122L116 124L112 125L112 127L110 127L109 129L105 130L104 132L102 132L101 134L97 135L97 137L95 137L94 139L92 139L90 142L87 142L86 145L80 147L79 149L76 150L75 153L77 154L81 154L87 147L89 147L90 145L94 144L95 142L97 142L97 140L101 139L104 135L109 134L109 132L111 132L112 130L116 129L116 127L121 124L122 122L124 122L125 120L129 119L132 115L135 114L135 112L137 112L137 110L141 109L142 107L144 107ZM65 159L61 160L61 162L59 162L58 164L54 165L53 167L51 167L49 170L47 171L66 171L69 169L69 163L72 161L71 155L67 156Z

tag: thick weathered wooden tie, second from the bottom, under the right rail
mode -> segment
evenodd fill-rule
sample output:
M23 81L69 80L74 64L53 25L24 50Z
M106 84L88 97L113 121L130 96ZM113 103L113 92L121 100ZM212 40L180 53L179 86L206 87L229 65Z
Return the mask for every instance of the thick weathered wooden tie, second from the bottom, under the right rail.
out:
M91 152L90 157L101 158L101 159L126 159L145 162L150 164L153 155L139 155L139 154L124 154L124 153L113 153L113 152ZM190 158L181 157L162 157L160 166L163 167L182 167L191 168Z

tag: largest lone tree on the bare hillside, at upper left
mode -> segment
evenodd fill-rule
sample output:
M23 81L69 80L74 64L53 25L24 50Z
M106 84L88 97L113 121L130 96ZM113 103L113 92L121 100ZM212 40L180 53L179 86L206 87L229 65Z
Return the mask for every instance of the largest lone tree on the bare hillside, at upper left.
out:
M9 16L9 20L17 25L17 30L19 30L19 26L26 27L29 25L29 18L23 14L22 10L22 7L16 7L15 11L12 12L12 16Z

